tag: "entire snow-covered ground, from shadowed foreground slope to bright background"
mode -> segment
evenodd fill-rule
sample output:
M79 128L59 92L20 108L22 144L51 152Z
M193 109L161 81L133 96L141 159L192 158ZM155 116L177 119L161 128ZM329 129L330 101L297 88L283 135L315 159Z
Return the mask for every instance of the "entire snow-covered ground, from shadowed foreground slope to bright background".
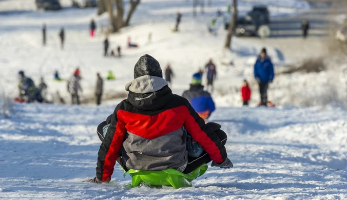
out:
M239 1L240 13L246 13L258 2ZM261 2L269 5L272 17L310 8L298 0ZM171 64L176 74L172 89L181 94L187 89L191 74L213 58L218 67L213 93L218 108L210 121L221 124L227 133L226 150L234 168L210 167L193 182L192 188L130 189L125 187L130 177L123 178L119 165L115 166L111 184L82 183L95 176L100 146L96 127L113 112L117 102L100 107L15 104L10 118L0 116L0 199L347 198L347 114L343 108L229 107L240 105L237 90L244 77L252 77L256 56L266 45L263 41L233 38L233 51L222 50L222 19L218 19L216 35L208 33L207 25L217 9L226 10L229 1L213 1L213 7L206 7L203 15L198 12L197 18L191 16L191 1L141 1L132 26L109 35L111 49L122 47L124 56L120 59L102 56L105 35L101 27L107 27L107 15L97 16L94 8L71 8L67 0L61 3L63 10L43 12L36 11L33 0L0 1L0 95L16 96L17 72L25 70L36 84L43 76L49 92L58 90L69 102L66 83L54 82L53 72L59 70L67 78L77 66L81 68L84 96L93 94L95 74L106 76L108 70L117 79L105 82L105 93L124 92L125 84L132 79L134 64L145 53L156 57L163 69ZM180 32L172 33L177 11L183 14ZM88 35L91 18L98 23L94 38ZM46 47L42 46L43 23L47 24ZM60 49L57 36L61 27L66 30L64 50ZM151 41L148 33L152 33ZM140 48L127 49L128 36ZM280 49L267 49L275 65L286 62ZM310 80L317 77L322 87L313 90L317 84ZM336 77L325 72L286 75L275 78L269 95L281 105L326 104L331 101L325 98L334 98L335 93L339 99L345 99L346 86L341 84L336 89L331 83ZM297 87L298 83L306 90ZM285 86L291 87L289 91L295 95L288 96ZM332 96L325 95L327 90ZM255 87L252 106L258 99Z

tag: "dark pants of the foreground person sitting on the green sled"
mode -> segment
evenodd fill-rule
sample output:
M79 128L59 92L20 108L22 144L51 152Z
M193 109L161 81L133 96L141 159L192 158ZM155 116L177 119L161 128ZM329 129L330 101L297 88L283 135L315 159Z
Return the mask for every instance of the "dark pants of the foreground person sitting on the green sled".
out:
M219 126L219 128L220 128L220 125L218 125L216 123L208 123L208 124L210 124L210 127L213 128L214 130L218 129L218 128L215 128L216 125L217 125L217 127ZM102 122L101 124L99 124L99 126L97 128L97 133L98 133L98 136L99 136L101 142L103 142L104 137L105 137L105 133L108 129L108 127L106 127L107 125L108 124L106 122ZM105 127L105 130L103 129L104 127ZM226 133L224 131L218 129L218 130L215 130L215 134L217 134L217 136L219 137L220 141L222 142L222 144L224 146L226 144L226 139L227 139ZM195 145L192 145L192 146L195 146ZM123 169L125 171L128 171L129 169L126 167L126 165L122 159L123 151L124 151L124 148L122 146L120 151L118 152L117 162L123 167ZM203 151L198 157L192 157L192 156L188 155L187 167L185 168L183 173L188 174L188 173L194 171L195 169L197 169L198 167L200 167L202 164L207 164L211 161L212 160L209 157L209 155L206 153L206 151Z

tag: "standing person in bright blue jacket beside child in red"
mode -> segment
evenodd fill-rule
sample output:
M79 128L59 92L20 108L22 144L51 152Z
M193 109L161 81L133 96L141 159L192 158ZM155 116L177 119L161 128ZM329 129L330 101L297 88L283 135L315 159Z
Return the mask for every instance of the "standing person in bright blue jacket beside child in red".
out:
M268 84L274 80L274 65L267 56L265 48L261 50L257 62L254 65L254 77L259 83L261 105L266 106Z

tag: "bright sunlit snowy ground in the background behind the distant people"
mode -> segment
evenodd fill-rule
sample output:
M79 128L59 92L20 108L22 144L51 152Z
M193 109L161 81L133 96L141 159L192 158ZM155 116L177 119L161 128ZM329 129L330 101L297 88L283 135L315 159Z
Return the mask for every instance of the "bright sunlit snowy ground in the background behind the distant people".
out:
M8 95L16 95L17 72L24 70L36 84L41 76L46 79L49 93L60 93L69 101L65 82L54 82L53 73L59 70L63 78L69 77L75 67L81 68L83 76L83 97L93 94L96 73L106 76L112 70L117 76L114 82L105 83L107 93L123 92L124 85L132 79L132 68L137 59L148 53L158 59L162 68L167 63L172 65L176 78L173 80L173 90L181 94L190 83L191 74L202 68L209 58L213 58L219 71L216 87L220 88L216 95L221 95L226 88L239 87L247 70L252 68L256 55L263 47L262 42L249 42L247 38L234 38L233 52L223 51L225 31L222 19L219 19L218 35L207 32L207 25L218 9L225 11L229 1L213 1L213 7L205 8L205 14L198 13L192 18L191 2L185 0L164 1L145 0L133 16L132 25L118 34L109 36L110 48L122 47L124 56L121 59L105 58L102 56L102 43L105 35L101 27L108 26L107 15L97 16L96 9L74 9L70 1L61 1L65 7L61 11L36 11L33 0L4 0L0 1L0 86ZM282 3L286 2L286 3ZM298 4L301 2L301 4ZM272 17L309 9L304 1L263 1L272 7ZM291 4L292 3L292 4ZM240 13L249 11L257 2L239 1ZM275 8L276 6L276 8ZM199 10L199 9L198 9ZM180 33L171 33L175 25L175 14L183 13ZM97 37L90 38L88 27L91 18L98 23ZM47 46L42 47L41 26L47 24ZM65 27L66 45L60 50L59 29ZM148 33L152 33L152 41L148 43ZM126 39L140 45L139 49L127 49ZM184 48L182 48L184 47ZM276 49L268 47L269 55L275 63L280 63ZM234 67L222 64L234 63ZM237 99L235 97L237 96ZM219 105L238 105L239 94L228 98L227 102Z

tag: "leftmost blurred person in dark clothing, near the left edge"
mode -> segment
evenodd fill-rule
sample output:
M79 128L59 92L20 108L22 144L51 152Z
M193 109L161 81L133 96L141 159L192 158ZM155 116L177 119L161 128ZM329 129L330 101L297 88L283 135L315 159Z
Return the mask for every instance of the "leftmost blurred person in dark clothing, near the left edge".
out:
M19 71L18 75L20 78L18 89L21 101L25 101L27 103L33 103L37 101L39 103L42 103L43 98L41 96L40 90L35 87L32 79L25 76L24 71Z

